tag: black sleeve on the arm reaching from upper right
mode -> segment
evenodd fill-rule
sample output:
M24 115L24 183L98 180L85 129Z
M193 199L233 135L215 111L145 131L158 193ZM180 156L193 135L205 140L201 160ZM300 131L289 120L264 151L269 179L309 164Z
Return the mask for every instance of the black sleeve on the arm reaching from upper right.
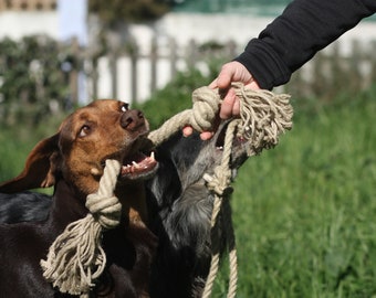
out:
M271 89L374 12L376 0L294 0L234 60Z

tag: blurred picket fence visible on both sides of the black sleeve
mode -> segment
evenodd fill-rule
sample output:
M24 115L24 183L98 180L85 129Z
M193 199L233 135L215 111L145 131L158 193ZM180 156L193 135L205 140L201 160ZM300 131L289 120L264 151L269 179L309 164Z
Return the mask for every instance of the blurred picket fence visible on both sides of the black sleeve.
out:
M341 42L336 42L320 52L280 89L299 97L315 95L330 98L341 89L363 89L375 83L376 41L367 46L354 41L347 54L342 54L341 47ZM83 68L76 72L85 74L83 88L86 98L115 97L139 102L167 84L177 72L189 67L206 72L208 63L217 61L219 67L240 51L234 42L199 45L191 41L186 46L178 46L174 40L163 43L153 40L149 49L144 51L133 44L121 52L107 52L95 57L85 55ZM77 98L77 74L72 72L72 95Z

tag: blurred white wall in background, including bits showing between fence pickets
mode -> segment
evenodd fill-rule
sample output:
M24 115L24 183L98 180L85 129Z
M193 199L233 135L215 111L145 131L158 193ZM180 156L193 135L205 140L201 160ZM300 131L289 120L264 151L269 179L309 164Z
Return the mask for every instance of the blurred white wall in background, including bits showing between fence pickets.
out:
M72 0L60 0L72 1ZM76 0L74 0L76 1ZM84 2L85 0L80 0ZM69 19L69 18L67 18ZM136 36L137 43L142 50L149 52L150 41L157 35L159 43L167 41L167 38L174 38L178 46L184 47L191 40L198 43L207 41L228 42L234 41L238 44L237 52L241 53L248 41L257 38L258 34L272 21L272 18L259 18L246 14L202 14L202 13L168 13L160 19L154 26L133 25L130 32ZM60 28L59 28L60 26ZM1 12L0 13L0 39L10 36L20 39L23 35L44 33L59 40L61 38L61 28L64 26L59 19L58 12L38 11L38 12ZM90 31L90 30L88 30ZM71 31L70 31L71 32ZM88 36L90 39L91 36ZM358 40L361 44L368 45L370 41L376 40L376 22L361 22L359 25L348 31L341 38L342 51L345 53L351 49L351 42ZM328 51L331 47L327 49ZM111 76L106 61L101 62L100 77L100 97L112 97ZM166 64L164 68L158 70L158 87L163 87L168 81L169 70ZM139 98L143 100L149 96L145 91L145 85L150 82L148 62L143 62L138 72L144 86L139 87ZM121 61L118 65L118 91L117 94L123 100L132 102L129 92L130 67L128 61ZM81 84L81 83L80 83ZM85 87L82 87L85 88ZM91 99L91 95L83 91L80 96L82 100Z

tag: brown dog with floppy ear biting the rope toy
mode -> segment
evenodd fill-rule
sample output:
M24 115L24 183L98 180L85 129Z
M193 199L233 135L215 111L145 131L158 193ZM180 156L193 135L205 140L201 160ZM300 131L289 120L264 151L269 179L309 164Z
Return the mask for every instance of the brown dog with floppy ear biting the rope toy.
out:
M109 158L125 164L115 190L123 216L116 228L104 233L107 265L91 297L148 296L156 237L145 225L140 180L155 172L157 162L142 152L147 132L148 124L139 110L118 100L96 100L69 116L56 135L39 142L19 177L0 184L3 193L54 185L46 221L0 225L2 297L60 295L44 280L40 260L69 223L86 215L86 195L97 191Z

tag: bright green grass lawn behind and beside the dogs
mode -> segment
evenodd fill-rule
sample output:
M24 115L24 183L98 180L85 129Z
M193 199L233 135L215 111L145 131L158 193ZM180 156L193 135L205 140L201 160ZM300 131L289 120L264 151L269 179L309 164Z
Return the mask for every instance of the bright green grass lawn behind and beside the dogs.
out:
M237 297L376 297L376 91L300 100L293 129L234 183ZM0 131L1 180L40 135ZM226 266L216 298L226 296Z

